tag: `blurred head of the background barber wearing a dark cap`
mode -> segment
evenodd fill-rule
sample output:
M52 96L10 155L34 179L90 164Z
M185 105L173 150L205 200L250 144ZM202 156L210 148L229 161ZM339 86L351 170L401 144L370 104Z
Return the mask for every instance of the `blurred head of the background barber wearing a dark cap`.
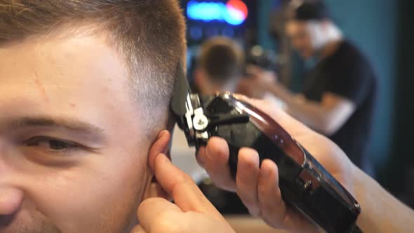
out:
M292 46L307 59L314 56L323 46L341 38L342 34L330 20L328 10L319 0L306 0L295 5L286 24L286 34Z

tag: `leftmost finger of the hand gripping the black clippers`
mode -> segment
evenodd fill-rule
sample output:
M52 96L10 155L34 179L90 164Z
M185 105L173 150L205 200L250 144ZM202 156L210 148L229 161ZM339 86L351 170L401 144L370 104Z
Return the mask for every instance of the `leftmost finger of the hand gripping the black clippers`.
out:
M199 150L197 160L215 185L228 191L236 191L236 182L230 175L229 146L226 140L218 137L208 140L206 149Z

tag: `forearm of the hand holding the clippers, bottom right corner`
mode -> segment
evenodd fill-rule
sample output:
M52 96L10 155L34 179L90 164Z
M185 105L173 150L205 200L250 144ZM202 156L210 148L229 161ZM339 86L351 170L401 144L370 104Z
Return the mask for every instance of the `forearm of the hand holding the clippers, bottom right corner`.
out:
M414 211L354 166L354 190L361 205L358 225L363 232L412 232Z

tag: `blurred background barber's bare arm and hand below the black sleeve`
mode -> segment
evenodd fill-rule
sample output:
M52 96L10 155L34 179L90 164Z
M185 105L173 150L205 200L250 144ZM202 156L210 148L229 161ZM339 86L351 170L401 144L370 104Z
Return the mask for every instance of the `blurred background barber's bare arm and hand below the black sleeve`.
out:
M307 100L276 82L274 72L254 65L250 65L247 71L251 78L240 82L237 93L258 99L271 93L286 103L288 114L323 135L337 132L356 109L354 102L335 93L323 93L320 102Z

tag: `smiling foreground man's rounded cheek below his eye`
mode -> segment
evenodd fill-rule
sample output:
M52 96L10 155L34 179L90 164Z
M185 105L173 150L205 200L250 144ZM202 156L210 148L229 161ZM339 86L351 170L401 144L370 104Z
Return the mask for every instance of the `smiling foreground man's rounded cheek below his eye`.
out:
M145 168L135 159L108 159L61 171L44 201L54 200L51 216L68 232L115 231L128 215L135 217L148 180Z

